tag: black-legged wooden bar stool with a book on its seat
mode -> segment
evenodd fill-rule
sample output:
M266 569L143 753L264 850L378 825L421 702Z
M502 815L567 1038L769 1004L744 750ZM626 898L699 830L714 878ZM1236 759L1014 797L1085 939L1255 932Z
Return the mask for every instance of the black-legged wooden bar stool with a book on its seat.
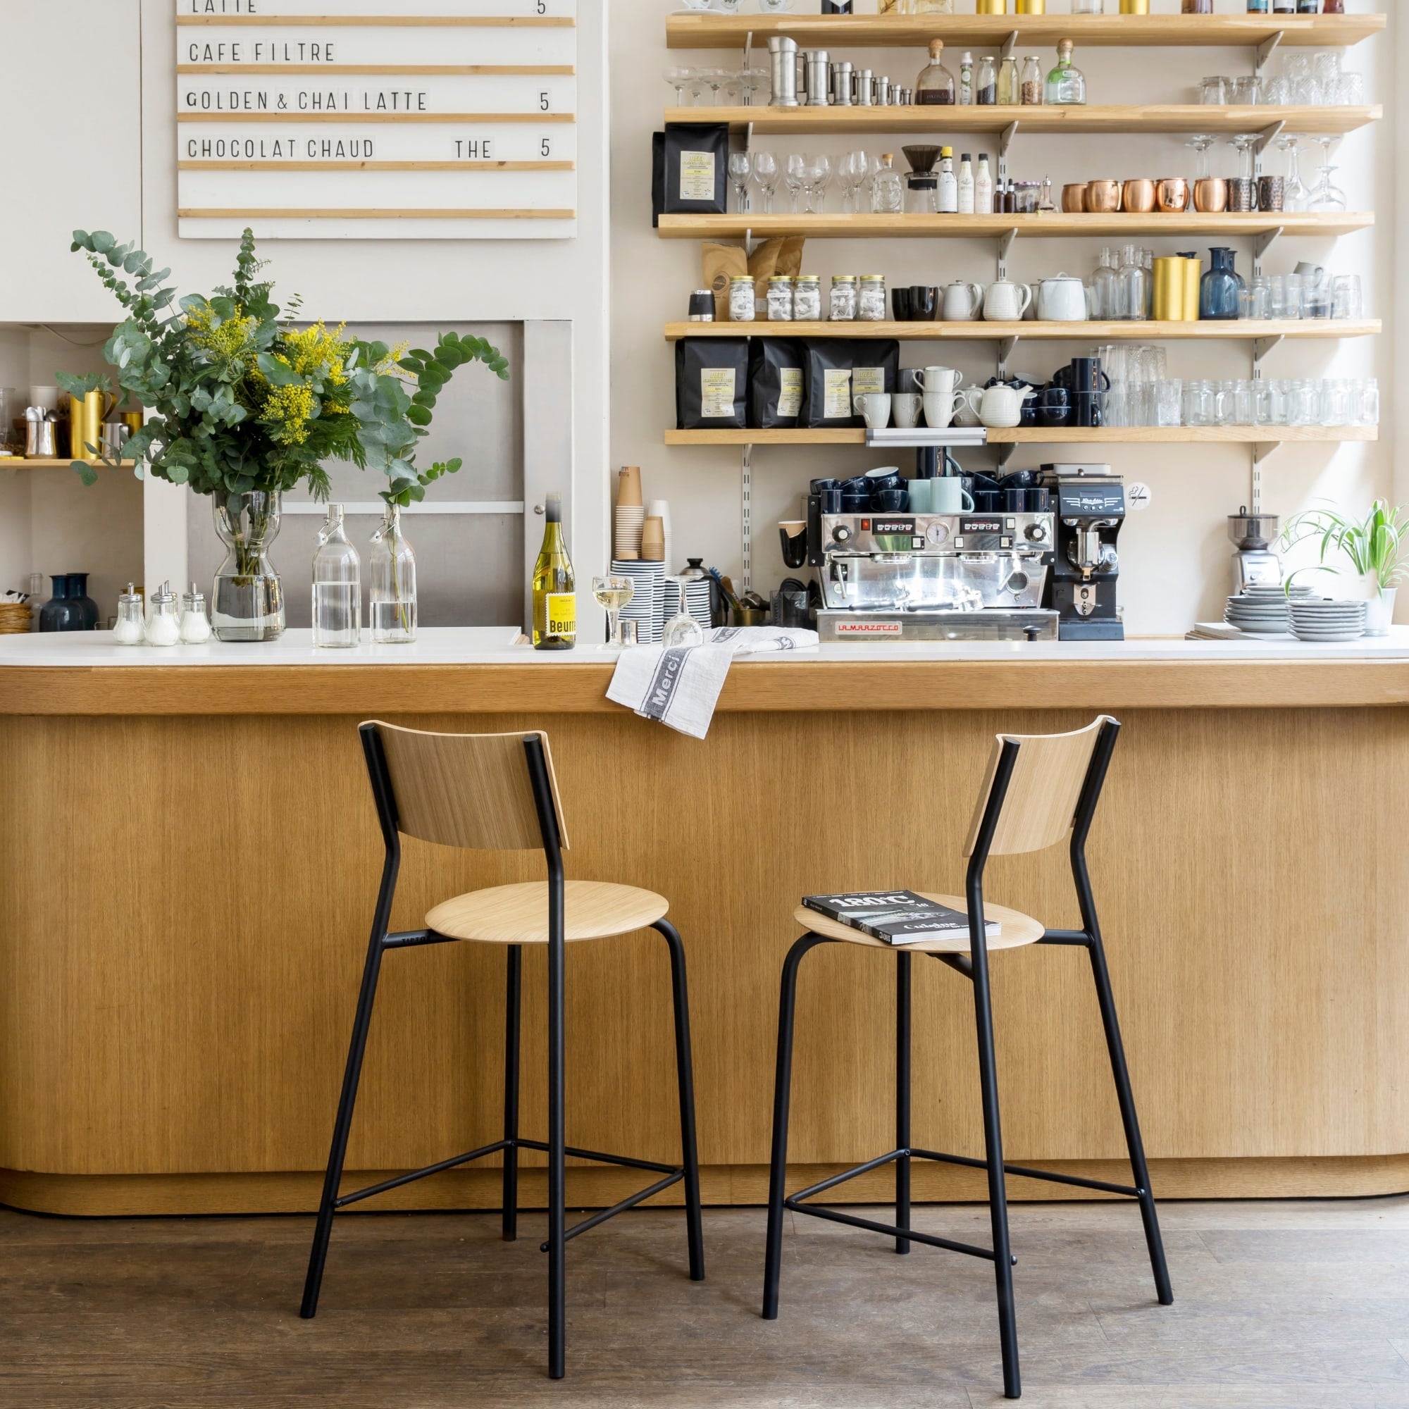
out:
M903 948L872 938L861 930L826 919L816 910L799 906L795 917L807 926L807 933L788 952L783 964L782 998L778 1013L778 1074L774 1092L774 1150L772 1172L768 1191L768 1250L764 1268L764 1317L778 1316L778 1281L782 1270L782 1224L783 1210L810 1213L852 1227L869 1229L895 1237L896 1253L909 1253L910 1243L924 1243L931 1247L948 1248L954 1253L968 1253L971 1257L989 1258L993 1262L998 1281L998 1324L999 1343L1003 1353L1003 1392L1009 1399L1022 1394L1017 1365L1017 1324L1013 1309L1013 1262L1007 1234L1007 1196L1003 1175L1022 1175L1030 1179L1050 1179L1055 1184L1076 1185L1096 1189L1102 1193L1127 1195L1140 1200L1140 1215L1144 1220L1146 1243L1150 1250L1150 1264L1154 1270L1155 1292L1164 1305L1174 1301L1169 1288L1169 1270L1165 1265L1164 1246L1160 1239L1160 1220L1155 1215L1154 1195L1150 1192L1150 1171L1146 1165L1144 1146L1140 1140L1140 1123L1136 1119L1134 1096L1130 1092L1130 1076L1126 1071L1126 1055L1120 1041L1120 1027L1116 1022L1116 1005L1110 993L1110 976L1106 971L1106 955L1100 943L1100 927L1096 921L1096 905L1091 892L1091 878L1086 872L1086 837L1100 797L1110 754L1116 745L1120 724L1109 717L1100 717L1088 728L1072 734L1012 735L999 734L988 764L988 775L979 793L978 807L969 827L968 875L965 896L937 895L940 900L968 914L969 931L964 937L945 937L920 944L906 944ZM1076 885L1076 902L1081 907L1082 927L1079 930L1048 930L1040 920L1009 910L1003 906L983 903L983 869L991 855L1014 855L1027 851L1043 851L1062 838L1071 841L1071 869ZM999 934L985 938L988 920L999 921ZM797 1193L785 1195L788 1177L788 1103L792 1088L792 1043L793 1007L797 996L797 968L806 954L819 944L857 944L869 948L893 950L898 965L896 976L896 1148L889 1154L868 1160L865 1164L833 1175ZM1003 1162L1003 1138L998 1115L998 1074L993 1060L993 1013L989 1000L989 950L1014 950L1029 944L1067 944L1085 948L1091 955L1092 976L1096 983L1096 1000L1106 1034L1106 1050L1110 1055L1110 1072L1115 1078L1116 1098L1120 1105L1120 1119L1124 1124L1126 1146L1130 1153L1130 1168L1134 1185L1105 1184L1099 1179L1081 1179L1074 1175L1053 1174L1045 1169L1031 1169L1023 1165ZM940 962L962 974L974 986L974 1016L978 1030L979 1086L983 1103L983 1146L985 1158L938 1154L921 1150L910 1143L910 960L912 954L930 954ZM917 1233L910 1227L910 1160L938 1160L947 1164L968 1165L988 1171L989 1213L993 1227L993 1247L972 1247L950 1239ZM836 1188L847 1179L869 1169L895 1164L896 1223L893 1227L869 1219L838 1213L806 1200Z

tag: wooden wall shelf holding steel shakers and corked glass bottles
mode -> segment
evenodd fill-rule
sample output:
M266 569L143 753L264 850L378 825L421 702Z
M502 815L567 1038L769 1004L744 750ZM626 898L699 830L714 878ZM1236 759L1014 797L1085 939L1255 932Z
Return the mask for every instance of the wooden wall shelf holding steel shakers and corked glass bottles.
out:
M1013 18L1017 18L1016 15ZM727 123L754 135L905 132L1261 132L1282 124L1286 132L1343 135L1384 117L1379 104L1360 107L1215 107L1179 103L1148 107L668 107L666 123Z

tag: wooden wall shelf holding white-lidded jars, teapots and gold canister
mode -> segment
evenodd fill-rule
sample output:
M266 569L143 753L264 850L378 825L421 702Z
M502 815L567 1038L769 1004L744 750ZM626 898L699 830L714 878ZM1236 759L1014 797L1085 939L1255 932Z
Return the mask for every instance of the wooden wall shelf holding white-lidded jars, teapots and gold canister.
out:
M1251 341L1254 338L1339 340L1379 334L1378 318L1240 318L1206 323L666 323L665 337L681 338L898 338L900 342L1034 341L1107 342Z

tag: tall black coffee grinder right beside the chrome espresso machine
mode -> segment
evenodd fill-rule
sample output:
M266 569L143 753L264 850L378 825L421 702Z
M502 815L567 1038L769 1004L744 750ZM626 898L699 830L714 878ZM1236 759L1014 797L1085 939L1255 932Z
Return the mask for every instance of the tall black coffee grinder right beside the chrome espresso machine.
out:
M1053 493L1055 544L1044 604L1058 616L1061 641L1123 641L1116 606L1126 521L1126 489L1109 465L1043 465L1038 480Z

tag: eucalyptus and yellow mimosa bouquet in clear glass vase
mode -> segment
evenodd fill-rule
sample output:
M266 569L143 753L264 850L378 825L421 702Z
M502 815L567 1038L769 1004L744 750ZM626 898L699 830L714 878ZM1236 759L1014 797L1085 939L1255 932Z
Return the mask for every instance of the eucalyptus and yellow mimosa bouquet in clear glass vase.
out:
M148 417L123 454L135 461L138 479L152 473L210 496L227 550L211 593L211 624L223 641L268 641L283 630L269 544L285 490L307 483L325 500L324 464L351 461L386 475L382 499L395 519L400 506L426 497L433 479L461 468L459 459L416 466L435 399L455 369L482 362L509 378L507 359L483 338L444 333L434 352L407 351L349 337L345 325L300 327L300 300L282 311L271 299L273 285L258 279L249 230L230 286L179 302L166 285L169 269L154 272L151 255L107 231L76 230L72 248L86 252L127 311L103 355ZM100 458L118 465L107 451ZM73 468L86 483L97 478L90 462L76 459ZM410 604L402 614L414 620Z

